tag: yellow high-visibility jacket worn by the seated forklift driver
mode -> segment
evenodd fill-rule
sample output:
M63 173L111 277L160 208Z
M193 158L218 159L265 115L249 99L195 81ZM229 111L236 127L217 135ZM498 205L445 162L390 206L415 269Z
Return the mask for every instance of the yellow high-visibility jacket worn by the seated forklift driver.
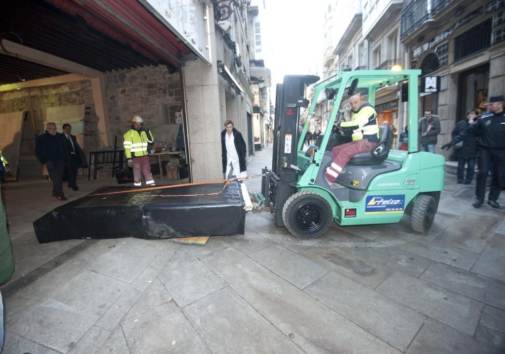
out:
M341 122L341 127L353 129L353 141L368 139L369 142L378 142L377 113L369 103L363 104L353 114L350 122Z

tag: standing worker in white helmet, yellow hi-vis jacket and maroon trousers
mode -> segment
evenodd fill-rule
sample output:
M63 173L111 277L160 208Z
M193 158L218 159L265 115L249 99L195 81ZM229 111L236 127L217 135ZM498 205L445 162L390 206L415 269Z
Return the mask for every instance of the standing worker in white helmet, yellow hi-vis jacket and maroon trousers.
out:
M133 167L133 181L135 186L142 185L142 175L147 186L154 186L154 180L149 164L147 144L153 143L151 130L144 125L144 120L138 115L132 119L132 127L124 136L124 153L128 159L128 167Z

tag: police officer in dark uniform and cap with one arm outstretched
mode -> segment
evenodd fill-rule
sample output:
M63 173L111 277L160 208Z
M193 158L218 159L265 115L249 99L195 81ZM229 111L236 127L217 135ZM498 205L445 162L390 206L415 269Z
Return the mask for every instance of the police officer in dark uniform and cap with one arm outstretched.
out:
M491 189L487 197L488 204L493 208L499 208L496 201L501 192L501 173L505 163L505 111L503 110L503 96L491 96L486 103L489 112L482 115L474 124L463 130L459 135L442 146L442 149L449 149L456 143L464 140L471 134L480 138L479 152L479 173L477 174L477 185L475 187L475 200L472 204L474 208L480 208L484 203L486 194L486 176L489 171L489 160L494 159L494 173L491 180Z

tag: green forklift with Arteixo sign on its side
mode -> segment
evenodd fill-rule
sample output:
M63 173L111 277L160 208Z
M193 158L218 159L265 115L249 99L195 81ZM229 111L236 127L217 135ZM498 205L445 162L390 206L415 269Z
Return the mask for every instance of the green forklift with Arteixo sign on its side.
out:
M417 84L420 70L359 70L338 72L324 80L312 75L287 75L276 87L272 168L265 167L262 194L275 213L278 227L295 237L323 235L333 220L342 227L398 223L406 213L415 232L428 233L433 225L444 186L442 155L417 148ZM312 102L304 97L314 84ZM380 141L371 152L353 156L333 185L324 178L332 162L331 149L351 141L341 128L340 106L355 94L375 95L387 86L400 85L408 102L408 150L392 150L393 134L380 126ZM333 107L324 135L304 149L304 137L314 119L320 94ZM408 100L410 98L410 100ZM300 125L301 109L308 115Z

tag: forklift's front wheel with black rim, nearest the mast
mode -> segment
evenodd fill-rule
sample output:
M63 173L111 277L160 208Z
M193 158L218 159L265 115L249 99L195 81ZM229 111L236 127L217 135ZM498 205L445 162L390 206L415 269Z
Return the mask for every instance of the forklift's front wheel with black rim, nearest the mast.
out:
M303 191L294 193L282 208L282 221L291 235L312 239L328 231L333 222L331 206L321 195Z

